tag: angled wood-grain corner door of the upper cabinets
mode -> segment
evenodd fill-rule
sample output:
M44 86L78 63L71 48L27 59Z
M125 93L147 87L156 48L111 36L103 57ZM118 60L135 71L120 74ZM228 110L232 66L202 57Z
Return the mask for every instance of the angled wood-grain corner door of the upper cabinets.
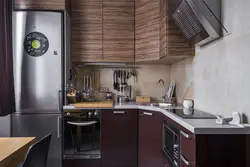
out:
M160 1L135 1L135 61L160 58Z

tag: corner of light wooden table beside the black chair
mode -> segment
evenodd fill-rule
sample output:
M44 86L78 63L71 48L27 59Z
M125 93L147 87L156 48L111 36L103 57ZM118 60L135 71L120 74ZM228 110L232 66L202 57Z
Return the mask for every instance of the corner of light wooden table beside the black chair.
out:
M35 137L0 138L0 167L14 167L21 163Z

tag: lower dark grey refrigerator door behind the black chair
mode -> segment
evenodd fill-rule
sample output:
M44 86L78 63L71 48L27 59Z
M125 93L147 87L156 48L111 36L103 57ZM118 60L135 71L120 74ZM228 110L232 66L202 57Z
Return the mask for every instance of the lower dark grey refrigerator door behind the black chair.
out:
M60 114L13 114L13 137L36 137L41 139L48 133L52 133L47 167L62 166L62 137Z

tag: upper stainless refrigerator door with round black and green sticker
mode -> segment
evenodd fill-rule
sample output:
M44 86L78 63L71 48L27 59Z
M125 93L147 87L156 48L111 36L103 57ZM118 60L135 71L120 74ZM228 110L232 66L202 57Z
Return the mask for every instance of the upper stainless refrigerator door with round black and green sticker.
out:
M62 106L63 14L13 12L17 113L55 113Z

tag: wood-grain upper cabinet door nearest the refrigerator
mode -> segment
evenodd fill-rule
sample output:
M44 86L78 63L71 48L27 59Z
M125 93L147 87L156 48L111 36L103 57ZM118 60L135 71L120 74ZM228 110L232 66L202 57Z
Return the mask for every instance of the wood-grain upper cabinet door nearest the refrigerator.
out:
M102 61L102 0L72 0L72 61Z

